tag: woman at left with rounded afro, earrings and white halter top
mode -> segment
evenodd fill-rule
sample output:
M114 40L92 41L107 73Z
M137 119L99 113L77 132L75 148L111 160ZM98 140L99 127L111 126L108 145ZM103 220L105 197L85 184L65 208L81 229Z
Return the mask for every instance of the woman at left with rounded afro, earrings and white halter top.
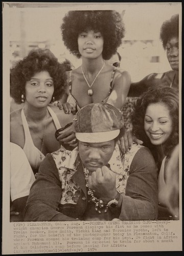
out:
M24 103L10 115L10 140L24 150L34 173L47 153L59 149L56 130L73 120L50 104L61 98L65 84L65 69L50 50L31 51L10 72L11 97Z

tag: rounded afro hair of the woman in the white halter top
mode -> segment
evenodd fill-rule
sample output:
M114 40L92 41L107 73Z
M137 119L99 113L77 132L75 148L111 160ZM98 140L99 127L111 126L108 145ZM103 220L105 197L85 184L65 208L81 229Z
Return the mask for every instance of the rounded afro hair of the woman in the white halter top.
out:
M54 81L55 100L61 98L66 86L64 65L59 63L48 49L32 50L27 57L19 60L10 71L10 95L16 103L21 103L21 95L25 95L26 82L38 72L48 71Z

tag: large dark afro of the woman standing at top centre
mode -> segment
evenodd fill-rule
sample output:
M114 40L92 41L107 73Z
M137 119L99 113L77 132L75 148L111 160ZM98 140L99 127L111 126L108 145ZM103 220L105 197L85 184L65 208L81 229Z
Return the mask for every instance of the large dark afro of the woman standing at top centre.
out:
M125 28L120 13L113 10L69 11L61 25L64 45L78 58L78 35L86 29L99 31L104 39L103 59L109 59L122 43Z

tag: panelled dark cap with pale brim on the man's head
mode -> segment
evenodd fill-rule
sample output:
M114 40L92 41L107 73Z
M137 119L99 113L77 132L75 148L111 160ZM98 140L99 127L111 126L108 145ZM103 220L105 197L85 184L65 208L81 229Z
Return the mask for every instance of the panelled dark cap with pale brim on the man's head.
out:
M83 142L99 143L116 138L124 126L120 110L108 103L91 103L74 116L73 131Z

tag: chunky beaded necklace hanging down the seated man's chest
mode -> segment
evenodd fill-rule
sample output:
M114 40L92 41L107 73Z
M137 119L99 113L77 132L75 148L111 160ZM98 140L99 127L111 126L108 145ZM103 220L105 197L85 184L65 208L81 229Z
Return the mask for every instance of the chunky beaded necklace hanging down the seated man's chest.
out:
M86 187L87 187L87 194L88 196L91 197L91 199L89 200L89 202L93 202L95 203L95 209L96 211L99 212L99 214L101 214L102 210L104 212L107 212L108 206L104 204L104 202L102 201L102 199L98 199L94 196L93 191L89 188L89 184L88 184L88 178L89 178L89 171L88 169L86 169L83 166L83 171L84 171L84 177L85 177L85 181L86 181Z

